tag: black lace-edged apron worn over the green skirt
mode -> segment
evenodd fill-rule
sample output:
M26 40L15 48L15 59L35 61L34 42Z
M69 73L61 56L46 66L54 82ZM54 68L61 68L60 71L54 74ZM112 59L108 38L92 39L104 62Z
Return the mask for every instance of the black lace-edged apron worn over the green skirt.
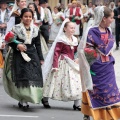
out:
M31 58L26 62L19 51L14 50L11 61L12 80L17 87L43 87L40 59L34 46L27 46L27 55Z

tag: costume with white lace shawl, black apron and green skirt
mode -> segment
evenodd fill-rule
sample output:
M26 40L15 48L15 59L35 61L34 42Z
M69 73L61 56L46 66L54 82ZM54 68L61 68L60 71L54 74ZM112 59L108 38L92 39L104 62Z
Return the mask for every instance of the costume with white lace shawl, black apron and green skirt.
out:
M40 103L42 98L43 78L40 60L43 60L40 33L37 26L30 26L27 31L22 23L13 27L17 40L27 47L26 55L31 59L27 62L17 44L11 46L5 60L3 83L8 95L22 102Z

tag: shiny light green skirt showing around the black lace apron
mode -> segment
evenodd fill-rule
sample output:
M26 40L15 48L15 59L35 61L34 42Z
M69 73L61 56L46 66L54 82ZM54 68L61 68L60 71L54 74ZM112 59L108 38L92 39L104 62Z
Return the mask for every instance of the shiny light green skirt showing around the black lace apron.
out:
M31 103L40 103L42 99L42 87L29 86L29 87L16 87L12 80L11 71L11 60L12 60L12 49L8 52L5 60L4 71L3 71L3 85L6 93L12 98Z

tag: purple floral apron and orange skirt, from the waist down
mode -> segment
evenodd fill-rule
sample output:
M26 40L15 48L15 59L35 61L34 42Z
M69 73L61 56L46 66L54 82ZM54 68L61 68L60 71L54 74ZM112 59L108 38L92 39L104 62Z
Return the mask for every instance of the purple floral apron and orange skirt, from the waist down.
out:
M114 58L108 62L96 60L90 67L93 90L83 93L82 112L94 120L118 120L120 118L120 92L116 84Z

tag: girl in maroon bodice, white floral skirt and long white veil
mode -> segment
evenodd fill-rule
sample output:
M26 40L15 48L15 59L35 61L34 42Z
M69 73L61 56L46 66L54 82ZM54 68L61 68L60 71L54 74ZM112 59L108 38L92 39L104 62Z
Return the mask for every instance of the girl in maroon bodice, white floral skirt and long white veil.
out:
M58 33L55 42L48 53L43 65L43 78L46 80L43 88L42 103L50 108L48 98L60 101L74 101L74 110L81 110L81 80L79 67L74 54L77 51L78 41L73 36L75 24L63 23L64 33ZM63 28L61 29L63 31ZM52 53L53 52L53 53ZM50 60L51 61L48 61ZM51 66L49 64L51 63ZM50 68L47 72L46 69Z

